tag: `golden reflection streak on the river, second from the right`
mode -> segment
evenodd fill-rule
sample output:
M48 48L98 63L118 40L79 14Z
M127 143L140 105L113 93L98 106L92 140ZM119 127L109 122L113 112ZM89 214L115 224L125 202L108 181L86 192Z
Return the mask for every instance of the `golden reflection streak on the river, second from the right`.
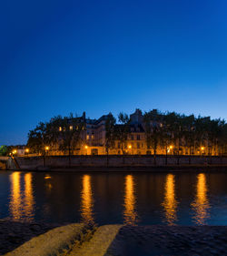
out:
M177 200L175 199L175 177L173 174L166 176L164 191L163 208L165 214L165 221L169 225L173 225L177 220Z

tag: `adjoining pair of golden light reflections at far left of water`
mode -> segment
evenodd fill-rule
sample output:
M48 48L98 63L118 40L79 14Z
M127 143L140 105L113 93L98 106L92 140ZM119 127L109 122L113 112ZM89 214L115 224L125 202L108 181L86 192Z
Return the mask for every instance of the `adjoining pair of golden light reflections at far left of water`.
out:
M13 220L33 220L35 200L33 196L32 173L26 173L24 184L21 173L15 171L11 176L11 195L9 210ZM24 186L23 186L24 185ZM24 190L23 190L24 189Z

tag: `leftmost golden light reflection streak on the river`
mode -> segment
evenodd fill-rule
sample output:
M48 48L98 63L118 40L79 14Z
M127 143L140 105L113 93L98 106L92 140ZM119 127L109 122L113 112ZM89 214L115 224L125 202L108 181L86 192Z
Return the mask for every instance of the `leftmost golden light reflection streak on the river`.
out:
M11 195L10 195L10 213L13 220L19 220L22 217L22 198L20 185L20 172L15 171L10 176Z

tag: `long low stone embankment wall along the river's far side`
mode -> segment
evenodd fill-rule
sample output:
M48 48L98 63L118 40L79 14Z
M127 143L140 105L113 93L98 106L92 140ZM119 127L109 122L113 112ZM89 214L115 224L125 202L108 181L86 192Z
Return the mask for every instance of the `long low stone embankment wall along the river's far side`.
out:
M149 170L149 169L227 169L226 157L210 156L166 156L158 155L104 155L98 156L46 156L15 157L7 160L7 169L24 170L60 170L60 169L91 169L91 170Z

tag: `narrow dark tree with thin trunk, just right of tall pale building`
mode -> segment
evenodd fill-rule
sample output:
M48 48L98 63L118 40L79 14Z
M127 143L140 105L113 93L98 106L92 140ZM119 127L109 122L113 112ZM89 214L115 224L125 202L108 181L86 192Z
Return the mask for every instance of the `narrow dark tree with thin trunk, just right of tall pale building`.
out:
M109 149L114 148L114 126L116 119L110 113L105 119L105 151L107 156L107 166L109 165Z

